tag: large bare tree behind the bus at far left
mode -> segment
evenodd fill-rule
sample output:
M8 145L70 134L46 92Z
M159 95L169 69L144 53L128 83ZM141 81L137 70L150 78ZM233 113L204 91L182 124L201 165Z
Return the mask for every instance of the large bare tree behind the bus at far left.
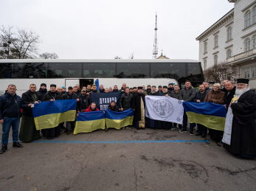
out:
M39 35L32 30L13 27L0 27L0 57L4 59L32 59L37 58Z

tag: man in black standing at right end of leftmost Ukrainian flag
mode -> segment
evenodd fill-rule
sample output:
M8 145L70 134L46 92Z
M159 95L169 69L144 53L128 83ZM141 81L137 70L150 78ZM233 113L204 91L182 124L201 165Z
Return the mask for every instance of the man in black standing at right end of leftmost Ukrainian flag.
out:
M73 100L73 99L76 99L77 100L77 114L79 114L80 111L81 111L80 99L77 96L77 94L75 92L73 92L72 86L69 86L68 91L69 91L68 94L63 94L63 100ZM75 121L74 122L66 122L66 134L67 135L70 134L72 126L75 128L75 122L77 120L77 114L75 115Z

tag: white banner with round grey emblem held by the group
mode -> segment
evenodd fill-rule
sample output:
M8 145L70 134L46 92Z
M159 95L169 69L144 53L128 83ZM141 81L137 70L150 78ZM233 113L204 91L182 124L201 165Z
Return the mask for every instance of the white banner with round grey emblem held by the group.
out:
M184 108L181 100L165 96L146 96L146 117L182 124Z

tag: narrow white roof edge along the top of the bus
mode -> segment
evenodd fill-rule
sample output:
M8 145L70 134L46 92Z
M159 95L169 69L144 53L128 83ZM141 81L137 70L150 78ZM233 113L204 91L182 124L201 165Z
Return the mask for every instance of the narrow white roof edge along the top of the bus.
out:
M0 63L199 63L191 59L0 59Z

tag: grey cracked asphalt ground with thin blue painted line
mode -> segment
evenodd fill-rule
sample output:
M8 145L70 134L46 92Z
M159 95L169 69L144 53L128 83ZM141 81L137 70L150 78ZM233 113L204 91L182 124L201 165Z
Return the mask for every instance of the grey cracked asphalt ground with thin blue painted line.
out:
M256 190L256 160L178 130L62 133L23 148L10 142L0 165L1 191Z

